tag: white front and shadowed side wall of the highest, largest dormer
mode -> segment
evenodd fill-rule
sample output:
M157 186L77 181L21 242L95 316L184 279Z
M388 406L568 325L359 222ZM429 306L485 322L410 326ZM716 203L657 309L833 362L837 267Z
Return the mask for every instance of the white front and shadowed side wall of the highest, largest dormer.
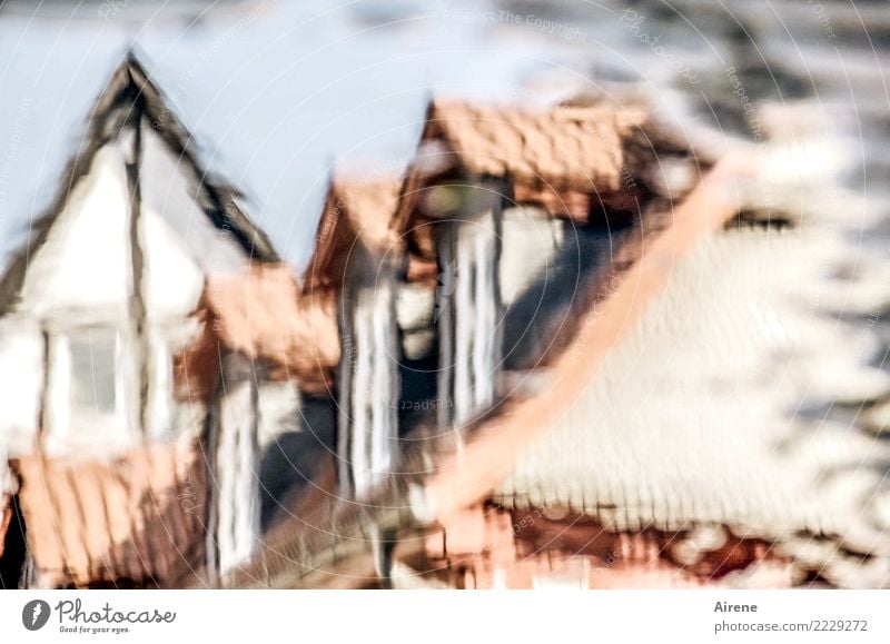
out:
M550 353L571 337L592 283L629 229L514 205L491 179L463 191L472 196L437 225L434 398L443 427L534 394Z

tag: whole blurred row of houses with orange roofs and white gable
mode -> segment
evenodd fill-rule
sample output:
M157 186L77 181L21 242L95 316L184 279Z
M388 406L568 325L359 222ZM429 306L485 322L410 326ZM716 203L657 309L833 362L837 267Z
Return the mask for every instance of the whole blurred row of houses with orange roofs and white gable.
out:
M130 56L3 277L6 587L887 583L789 406L890 382L788 297L842 257L769 151L434 100L297 275L190 148Z

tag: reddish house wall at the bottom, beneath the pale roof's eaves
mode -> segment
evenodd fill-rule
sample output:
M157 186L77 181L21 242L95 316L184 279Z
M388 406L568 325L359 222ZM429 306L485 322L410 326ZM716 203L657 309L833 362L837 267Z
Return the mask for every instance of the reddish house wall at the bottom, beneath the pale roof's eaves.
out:
M560 506L467 508L433 531L415 571L457 588L790 587L788 557L725 532L614 532Z

